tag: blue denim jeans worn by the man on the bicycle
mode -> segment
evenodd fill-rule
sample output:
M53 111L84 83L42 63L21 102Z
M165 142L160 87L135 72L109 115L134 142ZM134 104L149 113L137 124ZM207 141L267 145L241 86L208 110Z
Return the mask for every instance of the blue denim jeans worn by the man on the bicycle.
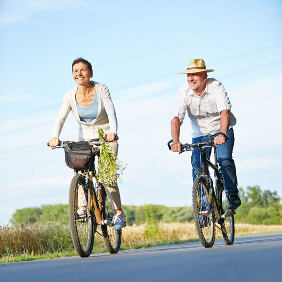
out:
M233 147L234 147L234 131L233 128L229 129L227 134L229 141L224 144L217 146L217 161L220 166L223 181L224 181L224 190L228 196L233 196L238 194L237 188L237 176L236 176L236 167L235 162L232 157ZM209 141L210 135L200 136L193 138L192 142L202 142ZM211 157L211 148L206 149L207 158L210 160ZM197 151L193 156L193 164L196 166L196 174L201 174L201 164L200 164L200 151ZM196 174L193 171L193 180L196 178Z

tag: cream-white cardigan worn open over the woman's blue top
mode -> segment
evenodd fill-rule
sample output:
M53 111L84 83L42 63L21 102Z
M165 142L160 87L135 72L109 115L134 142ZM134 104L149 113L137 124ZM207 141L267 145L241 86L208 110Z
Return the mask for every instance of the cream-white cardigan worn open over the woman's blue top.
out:
M116 111L110 92L107 86L105 86L104 84L98 82L94 83L98 101L97 118L95 118L92 124L80 120L75 98L77 87L74 87L70 89L64 96L63 103L58 117L55 121L51 137L59 139L64 123L71 111L73 113L73 116L79 123L79 140L90 140L93 138L98 138L99 128L102 128L104 130L104 133L114 133L118 131Z

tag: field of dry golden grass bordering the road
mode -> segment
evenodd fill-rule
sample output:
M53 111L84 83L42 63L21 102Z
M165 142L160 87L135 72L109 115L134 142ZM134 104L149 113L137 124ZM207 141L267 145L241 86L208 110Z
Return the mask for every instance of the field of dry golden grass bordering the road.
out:
M150 229L150 233L148 233ZM282 232L282 225L235 224L235 236ZM149 235L148 235L149 234ZM216 230L217 238L222 237ZM197 240L194 223L163 223L127 226L122 230L122 249L135 249ZM94 252L105 252L102 237L95 235ZM0 226L0 263L76 255L69 226L26 224ZM15 258L17 260L15 260Z

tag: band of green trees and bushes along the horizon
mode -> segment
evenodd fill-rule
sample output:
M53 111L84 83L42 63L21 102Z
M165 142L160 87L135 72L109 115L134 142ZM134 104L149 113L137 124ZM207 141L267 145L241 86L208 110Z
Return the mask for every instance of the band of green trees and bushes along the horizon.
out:
M282 224L281 198L277 191L261 190L259 186L239 188L242 201L236 210L236 223ZM192 207L165 207L163 205L122 206L128 225L145 223L149 217L164 222L192 222ZM40 208L17 210L10 220L15 223L59 222L69 224L68 205L43 205Z

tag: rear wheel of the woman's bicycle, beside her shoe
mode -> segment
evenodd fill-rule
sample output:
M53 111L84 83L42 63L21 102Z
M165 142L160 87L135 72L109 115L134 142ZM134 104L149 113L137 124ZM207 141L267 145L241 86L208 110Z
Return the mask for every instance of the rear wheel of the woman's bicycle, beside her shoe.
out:
M106 190L100 185L100 194L102 197L102 212L103 218L113 221L115 211L111 204L109 197L107 196ZM103 239L106 248L110 254L117 254L121 245L121 230L115 230L114 226L101 225Z

